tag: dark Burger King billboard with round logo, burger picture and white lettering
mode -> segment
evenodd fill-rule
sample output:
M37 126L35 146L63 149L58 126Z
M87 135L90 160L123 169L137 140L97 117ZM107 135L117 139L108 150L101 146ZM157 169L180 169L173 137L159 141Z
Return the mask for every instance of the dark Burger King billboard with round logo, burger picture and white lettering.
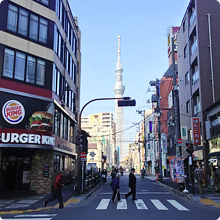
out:
M0 109L0 143L54 146L52 102L1 92Z

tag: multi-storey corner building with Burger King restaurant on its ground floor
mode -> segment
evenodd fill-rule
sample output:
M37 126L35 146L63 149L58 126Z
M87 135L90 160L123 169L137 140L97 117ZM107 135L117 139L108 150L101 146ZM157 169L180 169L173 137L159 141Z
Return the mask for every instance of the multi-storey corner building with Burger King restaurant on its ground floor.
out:
M77 175L81 33L67 0L0 3L0 191Z

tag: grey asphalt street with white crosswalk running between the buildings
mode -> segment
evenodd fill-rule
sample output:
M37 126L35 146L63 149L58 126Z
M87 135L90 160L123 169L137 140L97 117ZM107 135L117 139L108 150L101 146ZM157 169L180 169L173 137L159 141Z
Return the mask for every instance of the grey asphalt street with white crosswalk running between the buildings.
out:
M160 184L145 178L143 181L137 177L137 201L131 196L125 200L124 195L129 191L128 173L120 179L120 192L122 202L111 202L112 190L109 185L101 186L92 196L81 204L67 206L62 210L49 210L16 215L5 215L2 219L8 220L216 220L220 216L217 208L206 207L190 201L186 197L178 197Z

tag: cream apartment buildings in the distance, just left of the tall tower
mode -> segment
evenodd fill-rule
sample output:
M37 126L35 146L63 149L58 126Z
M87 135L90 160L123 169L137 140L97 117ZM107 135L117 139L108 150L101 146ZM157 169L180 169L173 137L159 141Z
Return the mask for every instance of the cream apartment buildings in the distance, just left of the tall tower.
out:
M90 136L87 165L100 169L114 166L116 149L113 114L102 112L82 117L81 127Z

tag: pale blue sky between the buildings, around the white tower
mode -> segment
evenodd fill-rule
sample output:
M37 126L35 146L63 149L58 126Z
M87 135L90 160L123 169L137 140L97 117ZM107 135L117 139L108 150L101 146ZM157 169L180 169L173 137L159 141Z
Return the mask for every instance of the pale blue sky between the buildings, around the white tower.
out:
M124 96L136 107L124 108L124 128L141 120L136 110L149 109L149 82L168 69L167 30L180 26L189 0L69 0L81 30L81 108L94 98L115 97L117 35L121 35ZM114 101L88 105L84 116L114 113ZM126 142L136 129L126 131ZM129 138L128 138L129 136Z

